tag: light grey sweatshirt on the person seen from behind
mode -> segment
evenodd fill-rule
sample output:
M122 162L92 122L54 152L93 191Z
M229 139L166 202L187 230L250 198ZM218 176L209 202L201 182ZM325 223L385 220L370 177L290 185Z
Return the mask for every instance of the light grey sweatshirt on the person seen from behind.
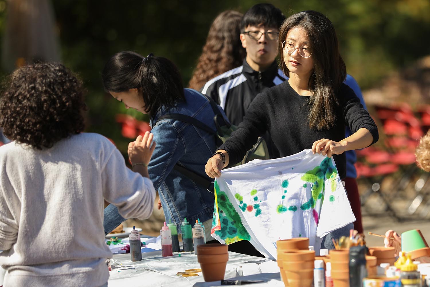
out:
M155 190L105 137L81 133L37 150L0 147L0 265L4 287L101 286L112 256L104 201L124 218L148 218Z

